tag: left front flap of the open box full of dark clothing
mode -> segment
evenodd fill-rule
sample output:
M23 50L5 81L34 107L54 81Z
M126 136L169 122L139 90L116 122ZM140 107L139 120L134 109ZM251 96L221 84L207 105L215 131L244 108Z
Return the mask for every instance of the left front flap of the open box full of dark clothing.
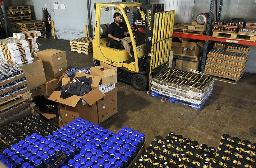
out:
M54 91L48 99L52 101L56 101L61 104L71 106L71 107L75 107L77 102L81 99L81 96L77 96L77 95L73 95L66 99L62 99L60 97L60 94L61 94L61 91Z

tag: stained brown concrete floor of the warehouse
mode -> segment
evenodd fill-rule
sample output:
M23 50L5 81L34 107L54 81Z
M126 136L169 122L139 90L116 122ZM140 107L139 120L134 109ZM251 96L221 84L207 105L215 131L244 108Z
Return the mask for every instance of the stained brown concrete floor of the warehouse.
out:
M39 39L39 50L54 48L66 51L68 68L93 66L92 54L70 51L69 41ZM147 145L156 135L169 132L217 147L222 134L238 136L256 143L256 74L245 73L236 84L215 81L213 94L200 111L190 107L161 102L146 91L117 82L119 116L104 126L117 131L126 126L146 135ZM184 115L181 115L181 114Z

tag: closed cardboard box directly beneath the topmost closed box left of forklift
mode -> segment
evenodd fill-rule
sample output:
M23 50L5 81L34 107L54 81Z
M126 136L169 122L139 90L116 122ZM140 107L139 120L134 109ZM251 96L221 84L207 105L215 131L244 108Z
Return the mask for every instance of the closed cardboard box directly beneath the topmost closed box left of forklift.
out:
M44 66L44 73L46 76L50 76L52 78L56 78L61 76L66 69L68 68L67 66L67 62L57 65L55 67L51 67L51 66L47 66L47 65L43 65Z

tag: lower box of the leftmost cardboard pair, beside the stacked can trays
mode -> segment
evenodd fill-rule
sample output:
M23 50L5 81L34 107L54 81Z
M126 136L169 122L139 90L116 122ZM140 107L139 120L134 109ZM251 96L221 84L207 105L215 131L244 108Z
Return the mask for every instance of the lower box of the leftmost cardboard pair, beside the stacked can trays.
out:
M28 88L30 89L36 88L46 83L44 71L39 74L35 74L33 76L29 76L29 77L26 76L26 78L28 80Z

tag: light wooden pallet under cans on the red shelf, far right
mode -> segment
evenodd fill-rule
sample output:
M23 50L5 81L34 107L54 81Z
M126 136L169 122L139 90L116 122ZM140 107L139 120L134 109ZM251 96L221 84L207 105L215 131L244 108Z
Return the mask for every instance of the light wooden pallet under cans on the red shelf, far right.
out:
M248 35L248 34L238 34L238 33L213 32L212 37L235 39L235 40L256 41L256 36L252 36L252 35Z

